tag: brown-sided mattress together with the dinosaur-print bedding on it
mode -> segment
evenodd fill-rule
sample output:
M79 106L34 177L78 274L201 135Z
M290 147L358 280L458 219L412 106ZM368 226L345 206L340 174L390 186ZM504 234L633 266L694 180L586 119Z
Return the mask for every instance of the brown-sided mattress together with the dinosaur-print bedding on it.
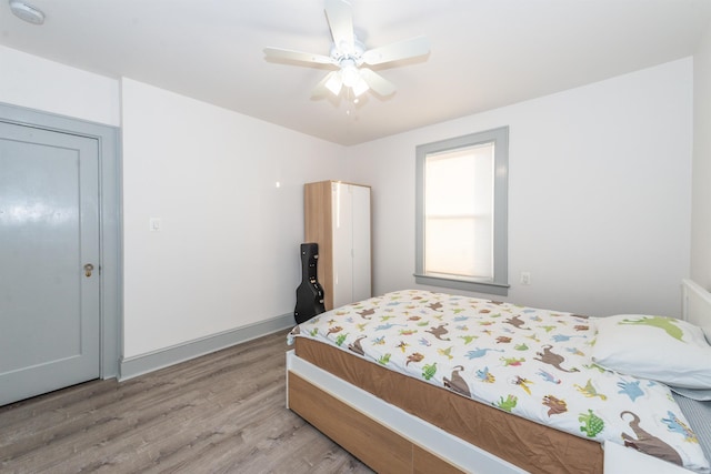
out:
M601 472L599 443L650 432L648 454L708 472L667 386L592 363L584 316L409 290L293 335L300 357L531 472Z

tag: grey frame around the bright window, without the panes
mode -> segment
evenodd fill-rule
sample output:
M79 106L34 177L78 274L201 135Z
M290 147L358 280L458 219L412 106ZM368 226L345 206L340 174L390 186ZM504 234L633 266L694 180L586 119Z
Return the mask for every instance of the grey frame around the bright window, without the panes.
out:
M424 273L424 182L428 154L494 143L493 184L493 279L458 278ZM500 127L462 137L420 144L415 148L415 258L414 281L418 284L444 286L507 296L509 293L508 222L509 222L509 127Z

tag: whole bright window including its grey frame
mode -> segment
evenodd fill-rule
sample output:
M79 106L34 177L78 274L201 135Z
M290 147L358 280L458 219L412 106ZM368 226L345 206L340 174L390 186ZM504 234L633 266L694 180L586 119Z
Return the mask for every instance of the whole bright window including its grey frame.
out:
M415 281L508 294L509 128L417 148Z

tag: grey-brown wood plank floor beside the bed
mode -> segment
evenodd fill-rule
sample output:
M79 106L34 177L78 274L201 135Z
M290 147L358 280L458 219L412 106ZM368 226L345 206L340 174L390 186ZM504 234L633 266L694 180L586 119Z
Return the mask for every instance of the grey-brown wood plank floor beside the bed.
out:
M284 407L286 333L0 407L2 473L370 473Z

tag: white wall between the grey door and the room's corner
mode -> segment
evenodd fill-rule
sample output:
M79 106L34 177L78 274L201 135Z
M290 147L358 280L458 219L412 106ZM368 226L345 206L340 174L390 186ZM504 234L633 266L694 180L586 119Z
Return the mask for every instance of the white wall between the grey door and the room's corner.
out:
M124 356L292 313L303 183L344 178L342 147L129 79L121 93Z

